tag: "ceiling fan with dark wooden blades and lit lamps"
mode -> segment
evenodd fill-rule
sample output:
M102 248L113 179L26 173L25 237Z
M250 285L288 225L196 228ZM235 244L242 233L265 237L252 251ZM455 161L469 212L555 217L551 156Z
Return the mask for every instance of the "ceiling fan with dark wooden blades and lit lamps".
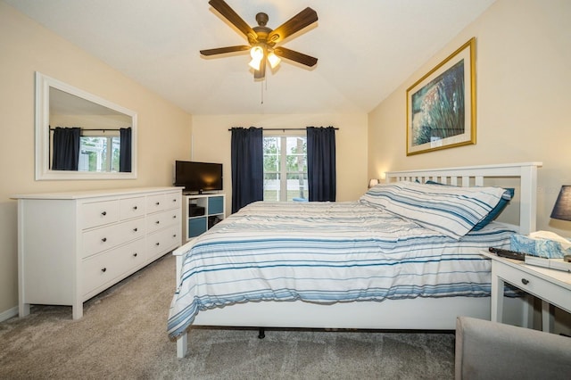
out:
M226 20L234 25L238 30L244 33L248 38L250 45L236 45L219 47L216 49L201 50L203 55L227 54L236 52L250 51L252 61L249 63L254 70L253 78L261 79L266 75L266 61L269 62L271 68L277 66L280 62L279 57L302 63L303 65L312 67L318 62L317 58L310 55L302 54L282 46L276 46L277 43L283 41L286 37L310 26L313 22L318 21L318 13L310 7L305 8L302 12L297 13L290 20L285 21L276 29L269 29L266 26L268 22L268 14L260 12L256 14L257 27L251 28L224 0L210 0L212 8L217 10Z

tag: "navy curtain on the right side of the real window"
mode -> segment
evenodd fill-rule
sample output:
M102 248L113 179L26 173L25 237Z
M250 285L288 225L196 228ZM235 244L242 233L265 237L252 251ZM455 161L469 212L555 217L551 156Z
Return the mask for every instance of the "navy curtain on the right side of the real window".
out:
M310 202L335 202L335 128L307 128Z

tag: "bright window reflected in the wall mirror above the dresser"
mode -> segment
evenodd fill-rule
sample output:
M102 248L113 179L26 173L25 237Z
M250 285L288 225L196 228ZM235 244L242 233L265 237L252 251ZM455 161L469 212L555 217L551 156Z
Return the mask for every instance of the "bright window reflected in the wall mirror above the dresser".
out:
M120 136L81 136L79 171L119 171Z

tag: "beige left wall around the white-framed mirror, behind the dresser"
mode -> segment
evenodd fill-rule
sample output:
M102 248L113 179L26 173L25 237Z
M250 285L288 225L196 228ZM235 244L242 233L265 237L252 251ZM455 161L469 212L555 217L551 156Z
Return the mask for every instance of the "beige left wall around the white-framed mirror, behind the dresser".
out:
M12 194L170 186L172 162L190 154L191 116L0 1L0 318L18 304ZM138 178L34 181L34 72L138 112ZM54 221L55 222L55 221Z

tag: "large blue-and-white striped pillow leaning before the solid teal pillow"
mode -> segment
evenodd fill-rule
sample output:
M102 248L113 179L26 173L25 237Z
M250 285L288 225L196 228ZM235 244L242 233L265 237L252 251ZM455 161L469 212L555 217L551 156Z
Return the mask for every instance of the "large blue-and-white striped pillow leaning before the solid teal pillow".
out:
M402 181L372 187L360 202L459 239L490 214L504 193L501 187L434 186Z

